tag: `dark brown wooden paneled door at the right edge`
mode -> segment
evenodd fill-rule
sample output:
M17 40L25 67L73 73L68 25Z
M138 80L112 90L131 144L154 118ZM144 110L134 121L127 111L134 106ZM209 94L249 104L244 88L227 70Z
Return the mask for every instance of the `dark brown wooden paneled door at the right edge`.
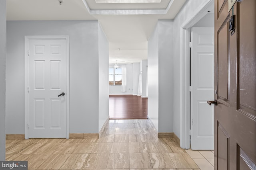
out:
M256 0L228 3L215 0L214 169L256 170Z

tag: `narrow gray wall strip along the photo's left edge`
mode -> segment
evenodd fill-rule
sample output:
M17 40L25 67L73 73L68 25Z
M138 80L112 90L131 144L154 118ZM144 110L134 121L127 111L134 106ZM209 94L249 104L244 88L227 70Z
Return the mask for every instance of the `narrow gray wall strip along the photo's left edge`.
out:
M6 0L0 1L0 160L5 160Z

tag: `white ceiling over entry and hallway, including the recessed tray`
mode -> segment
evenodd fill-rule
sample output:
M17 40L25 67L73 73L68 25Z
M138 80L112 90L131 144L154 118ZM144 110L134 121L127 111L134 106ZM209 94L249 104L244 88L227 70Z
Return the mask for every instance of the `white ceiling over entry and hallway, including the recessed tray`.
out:
M99 20L109 41L109 63L147 59L148 39L159 19L174 19L186 0L7 0L7 20ZM142 0L146 1L146 0ZM148 0L152 1L152 0Z

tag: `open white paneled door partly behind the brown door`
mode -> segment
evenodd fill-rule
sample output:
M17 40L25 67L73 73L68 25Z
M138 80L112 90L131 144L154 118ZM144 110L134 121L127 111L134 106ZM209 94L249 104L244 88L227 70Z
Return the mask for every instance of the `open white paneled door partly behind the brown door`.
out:
M214 28L191 29L191 149L214 149Z

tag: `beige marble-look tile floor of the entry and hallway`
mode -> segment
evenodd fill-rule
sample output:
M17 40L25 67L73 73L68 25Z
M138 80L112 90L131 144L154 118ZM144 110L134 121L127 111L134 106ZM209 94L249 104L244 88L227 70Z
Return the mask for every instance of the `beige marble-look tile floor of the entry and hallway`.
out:
M213 170L212 151L181 149L147 119L109 120L100 139L6 140L6 160L29 169Z

